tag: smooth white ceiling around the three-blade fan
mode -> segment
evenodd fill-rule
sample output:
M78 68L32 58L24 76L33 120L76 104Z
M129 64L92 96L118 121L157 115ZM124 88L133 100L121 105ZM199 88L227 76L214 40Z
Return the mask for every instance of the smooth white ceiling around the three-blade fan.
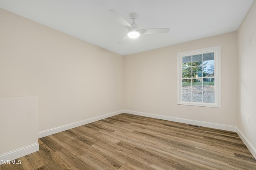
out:
M236 31L253 0L0 0L0 8L121 55L128 55ZM126 34L108 12L129 23L138 13L140 29L170 28L117 44Z

